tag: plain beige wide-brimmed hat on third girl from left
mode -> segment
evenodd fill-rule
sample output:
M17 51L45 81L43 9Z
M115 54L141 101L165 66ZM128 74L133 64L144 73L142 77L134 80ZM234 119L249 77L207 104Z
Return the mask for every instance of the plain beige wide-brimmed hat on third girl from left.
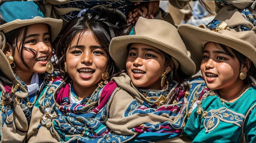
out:
M126 66L127 46L130 43L143 43L160 49L172 56L176 68L186 76L195 73L195 64L190 58L190 53L186 50L177 28L169 22L140 17L131 35L113 38L109 51L118 69Z

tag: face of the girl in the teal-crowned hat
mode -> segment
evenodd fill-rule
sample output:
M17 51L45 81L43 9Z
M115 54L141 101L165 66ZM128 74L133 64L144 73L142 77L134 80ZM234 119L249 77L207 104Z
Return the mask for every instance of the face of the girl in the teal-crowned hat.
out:
M23 34L24 31L21 33L21 35L23 36ZM34 49L36 54L36 56L34 56L31 51L23 49L22 54L24 61L29 68L27 68L20 59L21 47L19 46L22 41L22 36L18 38L17 47L15 47L15 52L13 55L18 76L20 77L21 75L30 77L33 73L45 73L46 63L52 56L52 45L50 42L48 26L43 23L28 26L23 46L29 49Z

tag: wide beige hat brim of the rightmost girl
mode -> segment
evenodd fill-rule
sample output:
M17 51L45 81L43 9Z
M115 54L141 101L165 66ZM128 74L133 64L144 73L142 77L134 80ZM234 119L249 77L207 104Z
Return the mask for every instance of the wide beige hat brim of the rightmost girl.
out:
M240 31L234 34L234 31L225 29L215 32L204 27L196 27L188 24L179 25L177 29L187 50L191 52L191 59L196 65L196 72L200 70L202 51L207 42L216 42L231 47L252 60L252 63L256 66L256 48L250 43L238 39L246 36L255 37L254 31ZM256 42L256 38L250 42Z

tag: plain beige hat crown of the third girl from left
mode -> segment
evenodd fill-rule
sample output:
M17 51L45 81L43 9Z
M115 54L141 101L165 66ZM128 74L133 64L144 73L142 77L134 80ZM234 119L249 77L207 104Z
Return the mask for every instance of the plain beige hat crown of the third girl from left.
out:
M164 20L151 20L148 22L146 18L139 18L134 27L134 35L145 36L157 43L162 43L166 46L166 49L177 48L187 55L186 46L182 42L177 28ZM166 52L166 50L163 51ZM172 56L172 54L166 53Z

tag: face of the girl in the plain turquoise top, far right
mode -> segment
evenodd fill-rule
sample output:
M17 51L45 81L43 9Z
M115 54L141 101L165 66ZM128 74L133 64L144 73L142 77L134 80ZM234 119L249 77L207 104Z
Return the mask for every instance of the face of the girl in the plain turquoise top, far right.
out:
M202 76L209 89L232 89L243 83L243 80L239 78L242 66L236 57L231 58L213 42L208 42L204 46L202 55Z

